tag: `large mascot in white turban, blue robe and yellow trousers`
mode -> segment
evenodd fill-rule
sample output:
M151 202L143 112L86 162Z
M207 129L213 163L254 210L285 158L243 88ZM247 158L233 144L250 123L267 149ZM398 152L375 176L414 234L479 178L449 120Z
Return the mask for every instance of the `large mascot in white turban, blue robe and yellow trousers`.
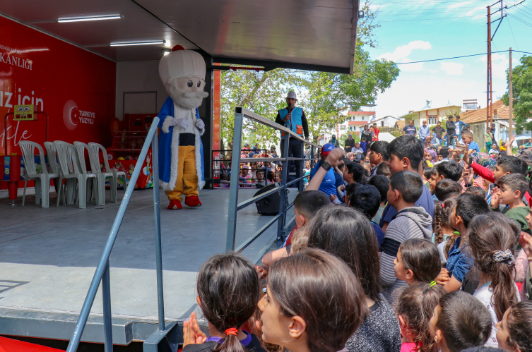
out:
M198 107L204 98L206 66L196 51L177 45L162 56L159 75L170 95L159 112L159 185L170 200L168 209L184 204L199 207L199 190L205 185L203 145L205 123Z

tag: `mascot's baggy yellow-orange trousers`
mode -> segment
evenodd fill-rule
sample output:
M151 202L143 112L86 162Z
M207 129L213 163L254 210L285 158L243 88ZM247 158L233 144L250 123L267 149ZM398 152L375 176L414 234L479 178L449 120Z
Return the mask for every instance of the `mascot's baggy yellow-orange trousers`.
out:
M196 146L179 146L177 154L177 180L174 190L166 190L168 200L183 200L181 195L199 195L198 174L196 174Z

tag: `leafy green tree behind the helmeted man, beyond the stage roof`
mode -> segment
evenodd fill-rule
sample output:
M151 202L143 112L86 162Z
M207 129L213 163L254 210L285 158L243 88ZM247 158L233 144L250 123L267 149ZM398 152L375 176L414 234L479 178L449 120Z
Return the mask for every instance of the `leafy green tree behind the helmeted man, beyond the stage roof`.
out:
M220 134L223 141L232 144L235 107L244 107L275 121L277 111L285 107L289 90L297 92L297 106L305 110L309 133L314 141L328 128L347 117L340 111L356 111L362 105L373 104L379 92L384 92L396 80L399 69L391 61L372 60L363 49L377 44L374 23L377 12L366 1L362 5L365 17L357 26L357 45L353 75L276 68L267 72L248 70L222 73L220 104ZM275 144L279 134L272 128L244 119L244 140L251 145Z

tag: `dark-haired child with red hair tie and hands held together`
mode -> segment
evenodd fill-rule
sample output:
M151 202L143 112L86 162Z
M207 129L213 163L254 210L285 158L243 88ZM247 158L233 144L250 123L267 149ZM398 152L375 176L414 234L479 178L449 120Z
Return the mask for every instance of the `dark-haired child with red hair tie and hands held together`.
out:
M259 302L259 277L249 260L234 253L213 255L199 270L196 288L210 336L192 313L183 324L182 352L266 352L254 334L240 328Z

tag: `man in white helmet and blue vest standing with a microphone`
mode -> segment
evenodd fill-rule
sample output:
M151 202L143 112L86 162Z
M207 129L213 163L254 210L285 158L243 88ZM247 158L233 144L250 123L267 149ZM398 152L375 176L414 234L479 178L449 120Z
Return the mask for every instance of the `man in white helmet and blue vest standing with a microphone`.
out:
M294 133L303 136L305 133L305 139L309 139L309 126L307 123L307 117L305 111L300 107L296 107L297 96L293 90L288 92L286 96L286 107L280 109L277 113L276 123L290 128ZM284 132L280 133L280 154L281 157L285 157L285 139L288 140L288 157L303 157L303 141L296 138L290 138L290 135L285 135ZM300 178L301 175L301 160L295 162L295 177Z

